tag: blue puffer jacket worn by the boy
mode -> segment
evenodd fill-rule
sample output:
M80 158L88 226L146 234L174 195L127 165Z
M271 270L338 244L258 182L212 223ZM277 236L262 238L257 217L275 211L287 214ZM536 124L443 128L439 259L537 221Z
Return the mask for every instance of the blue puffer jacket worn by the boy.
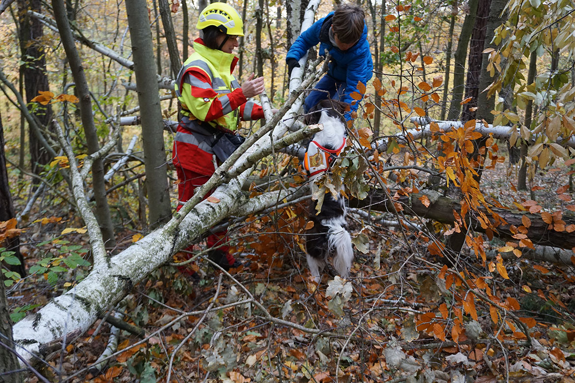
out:
M332 18L333 12L306 29L287 52L286 60L290 58L300 60L309 48L320 43L319 54L325 56L324 52L327 49L332 57L329 62L328 75L346 83L346 90L340 100L351 105L354 99L351 98L350 94L358 91L358 82L361 81L367 85L367 81L373 75L373 60L371 60L369 42L367 42L367 26L363 26L362 36L353 47L347 49L347 51L340 51L338 47L335 47L329 41L329 28L331 28ZM355 102L355 105L351 105L351 111L355 111L358 108L358 104L359 101ZM346 119L348 119L351 111L346 114Z

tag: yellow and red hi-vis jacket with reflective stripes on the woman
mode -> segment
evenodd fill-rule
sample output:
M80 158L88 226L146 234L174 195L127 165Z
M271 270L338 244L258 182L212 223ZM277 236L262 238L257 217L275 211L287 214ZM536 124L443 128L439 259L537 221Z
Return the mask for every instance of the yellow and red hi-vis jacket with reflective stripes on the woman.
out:
M175 166L204 175L214 172L212 145L222 130L236 130L239 119L263 118L262 107L248 101L232 75L237 57L210 49L198 38L194 53L175 82L182 106L174 140Z

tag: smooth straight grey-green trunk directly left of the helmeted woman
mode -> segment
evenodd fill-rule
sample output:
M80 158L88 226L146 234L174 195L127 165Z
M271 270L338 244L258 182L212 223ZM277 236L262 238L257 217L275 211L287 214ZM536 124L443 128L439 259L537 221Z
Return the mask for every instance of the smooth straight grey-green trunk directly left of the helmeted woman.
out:
M152 32L148 23L145 0L126 2L128 25L132 39L134 72L142 121L148 208L152 227L166 222L171 216L170 195L164 148L162 109L156 79ZM179 69L178 69L179 70Z

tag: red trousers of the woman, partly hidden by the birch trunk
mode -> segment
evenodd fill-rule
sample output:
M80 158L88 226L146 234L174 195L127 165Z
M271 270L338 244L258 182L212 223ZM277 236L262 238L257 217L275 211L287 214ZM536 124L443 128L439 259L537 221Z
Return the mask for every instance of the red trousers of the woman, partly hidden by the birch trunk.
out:
M183 204L187 202L187 200L189 200L194 195L196 188L208 182L211 176L202 175L200 173L196 173L194 171L181 167L176 167L176 172L178 173L178 181L179 181L178 207L176 210L179 211L182 208ZM208 198L210 194L212 194L211 191L204 196L204 199ZM206 242L208 247L217 247L227 241L228 241L228 231L224 230L219 231L218 233L208 235ZM191 250L191 247L188 247L186 250ZM225 253L228 264L233 265L233 262L235 262L235 258L231 254L229 254L229 246L225 245L220 246L218 247L218 250L221 250L221 252ZM191 257L191 254L188 255L189 257L187 257L187 259Z

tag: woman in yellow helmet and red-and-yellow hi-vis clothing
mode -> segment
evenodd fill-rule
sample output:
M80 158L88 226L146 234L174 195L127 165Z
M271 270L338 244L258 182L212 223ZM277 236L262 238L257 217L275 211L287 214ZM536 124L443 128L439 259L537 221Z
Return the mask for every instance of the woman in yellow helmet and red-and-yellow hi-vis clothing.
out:
M243 142L234 133L240 120L263 118L262 107L250 97L264 90L263 77L254 73L243 84L232 75L237 63L233 49L243 36L243 21L232 6L215 2L200 13L197 28L203 38L194 41L194 53L185 61L175 82L181 105L180 123L175 135L173 163L178 173L178 210L205 184L223 162ZM207 197L207 196L206 196ZM210 259L224 269L239 266L228 246L226 231L208 237ZM181 269L193 275L191 268Z

